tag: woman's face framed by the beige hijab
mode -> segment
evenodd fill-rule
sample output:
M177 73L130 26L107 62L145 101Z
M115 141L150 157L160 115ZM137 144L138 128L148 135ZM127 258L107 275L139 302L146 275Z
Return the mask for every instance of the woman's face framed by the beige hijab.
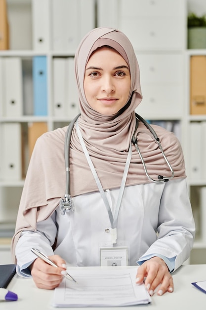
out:
M129 99L130 85L128 65L118 52L103 47L91 55L85 68L84 93L95 111L116 114Z

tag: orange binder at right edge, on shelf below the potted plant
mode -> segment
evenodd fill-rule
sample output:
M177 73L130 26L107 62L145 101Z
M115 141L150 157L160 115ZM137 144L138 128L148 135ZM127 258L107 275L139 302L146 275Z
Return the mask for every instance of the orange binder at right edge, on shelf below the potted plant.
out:
M206 56L190 57L190 114L206 114Z

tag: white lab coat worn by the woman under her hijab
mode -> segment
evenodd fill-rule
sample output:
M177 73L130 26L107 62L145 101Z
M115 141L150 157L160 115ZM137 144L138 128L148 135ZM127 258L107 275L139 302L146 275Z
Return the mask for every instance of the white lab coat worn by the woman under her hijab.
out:
M106 191L114 214L119 189ZM60 255L69 265L97 266L99 246L110 243L107 228L111 223L99 192L74 199L75 211L61 215L59 207L48 219L39 222L37 232L23 232L16 246L17 271L36 258L38 248L47 255ZM58 199L56 204L58 204ZM195 224L188 198L186 179L128 186L118 217L118 241L129 245L130 265L147 255L174 259L174 270L187 258L193 246Z

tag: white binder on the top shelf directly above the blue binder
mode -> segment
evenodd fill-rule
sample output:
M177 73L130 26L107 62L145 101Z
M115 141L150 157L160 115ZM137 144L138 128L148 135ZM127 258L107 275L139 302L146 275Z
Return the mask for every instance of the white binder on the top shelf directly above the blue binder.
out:
M47 51L49 42L49 0L32 0L33 49Z

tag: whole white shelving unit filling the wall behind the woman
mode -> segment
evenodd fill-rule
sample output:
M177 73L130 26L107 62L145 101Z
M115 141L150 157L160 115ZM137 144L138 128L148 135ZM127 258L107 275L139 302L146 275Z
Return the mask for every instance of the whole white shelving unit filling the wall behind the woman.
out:
M165 126L168 122L176 124L175 134L184 151L188 190L192 195L191 201L198 225L191 255L191 262L195 263L199 251L206 252L206 243L201 236L202 227L199 225L200 202L195 199L200 188L206 186L206 182L194 181L190 175L193 141L190 139L189 130L191 122L206 121L206 115L190 115L190 57L206 55L206 50L187 50L187 2L187 0L7 0L10 50L0 51L0 65L6 57L19 58L22 61L23 114L5 113L5 103L1 98L0 89L0 142L2 146L3 124L21 125L24 139L22 170L25 175L29 163L29 126L43 122L50 131L67 125L78 112L78 103L74 98L74 110L70 109L70 112L67 110L66 114L55 112L54 60L73 58L77 43L89 29L105 26L122 30L131 40L140 66L143 101L137 108L137 113L151 122L165 121ZM38 14L41 5L43 9L37 19L35 14ZM70 15L73 12L74 15L71 16L72 28L69 21L61 23L67 12ZM58 34L64 33L62 29L67 29L66 41L62 36L58 37ZM69 29L73 30L75 38L69 33ZM33 59L38 56L46 57L46 115L33 114ZM2 151L0 151L0 237L5 237L5 234L6 237L10 237L14 230L24 177L8 179L2 172L1 163ZM206 239L206 236L204 238ZM201 258L202 262L206 263L206 255L205 260L203 255ZM198 262L200 263L199 260Z

